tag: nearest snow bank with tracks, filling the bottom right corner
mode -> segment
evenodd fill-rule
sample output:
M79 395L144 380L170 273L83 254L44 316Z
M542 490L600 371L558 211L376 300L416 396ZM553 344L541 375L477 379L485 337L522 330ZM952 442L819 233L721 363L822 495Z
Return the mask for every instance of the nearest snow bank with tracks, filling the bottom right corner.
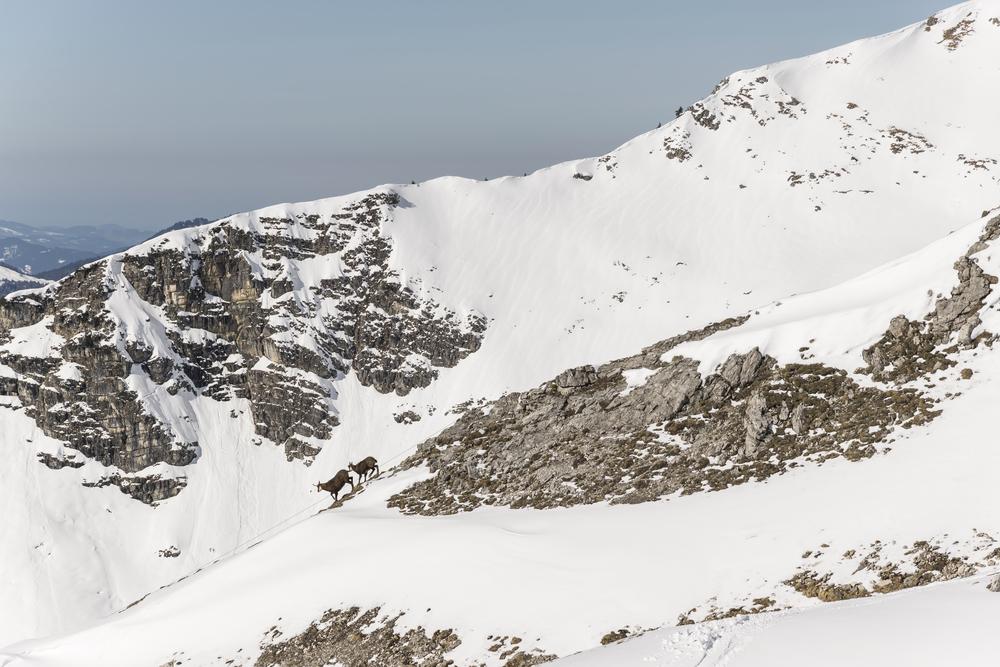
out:
M659 630L552 665L992 665L1000 651L1000 596L985 584L978 578L878 601Z

